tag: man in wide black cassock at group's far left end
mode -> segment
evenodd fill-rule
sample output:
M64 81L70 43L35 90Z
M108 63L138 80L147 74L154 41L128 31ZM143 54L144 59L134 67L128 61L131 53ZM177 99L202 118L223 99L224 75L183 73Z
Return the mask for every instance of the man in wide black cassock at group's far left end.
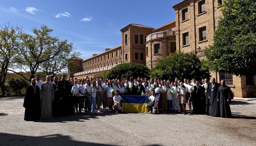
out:
M40 91L36 79L31 79L27 87L23 107L25 107L24 120L35 121L40 119Z

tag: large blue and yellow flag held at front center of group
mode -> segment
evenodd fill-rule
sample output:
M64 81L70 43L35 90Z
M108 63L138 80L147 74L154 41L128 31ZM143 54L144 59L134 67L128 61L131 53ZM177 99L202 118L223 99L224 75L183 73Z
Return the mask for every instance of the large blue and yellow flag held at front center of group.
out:
M148 96L123 95L122 108L125 112L145 113L148 112L146 105L148 104Z

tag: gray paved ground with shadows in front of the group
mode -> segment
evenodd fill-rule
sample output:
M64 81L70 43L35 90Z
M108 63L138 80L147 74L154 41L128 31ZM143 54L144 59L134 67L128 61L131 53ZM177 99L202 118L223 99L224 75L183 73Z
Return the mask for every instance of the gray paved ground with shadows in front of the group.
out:
M24 121L22 97L0 98L0 145L256 145L256 100L232 101L233 118L101 112Z

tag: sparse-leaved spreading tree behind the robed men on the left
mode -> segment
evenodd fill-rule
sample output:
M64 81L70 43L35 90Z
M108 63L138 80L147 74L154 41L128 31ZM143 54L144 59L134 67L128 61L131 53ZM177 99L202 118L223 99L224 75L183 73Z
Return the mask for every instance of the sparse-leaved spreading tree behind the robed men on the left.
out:
M69 58L74 56L73 44L68 43L68 40L59 40L58 37L50 36L53 29L46 25L40 29L33 28L33 34L22 35L22 46L16 56L15 67L9 69L12 72L21 69L25 71L29 78L20 74L24 79L30 81L37 71L42 71L42 74L50 75L57 74L67 69Z

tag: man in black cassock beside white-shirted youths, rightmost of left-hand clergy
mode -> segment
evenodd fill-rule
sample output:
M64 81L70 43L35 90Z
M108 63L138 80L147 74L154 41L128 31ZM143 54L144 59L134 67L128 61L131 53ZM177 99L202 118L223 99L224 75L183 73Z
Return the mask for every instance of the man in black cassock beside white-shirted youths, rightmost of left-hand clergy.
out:
M62 112L63 116L70 115L70 104L69 104L69 98L71 98L70 94L70 88L69 88L69 82L65 80L66 75L62 75L62 79L58 81L58 87L60 91L60 100L62 100Z

